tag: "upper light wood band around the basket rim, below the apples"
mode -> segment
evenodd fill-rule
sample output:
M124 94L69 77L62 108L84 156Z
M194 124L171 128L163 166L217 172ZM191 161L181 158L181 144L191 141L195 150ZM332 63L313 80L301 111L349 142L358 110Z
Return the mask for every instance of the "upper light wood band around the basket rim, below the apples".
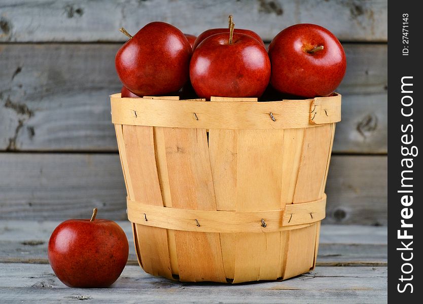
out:
M119 125L265 130L309 128L341 120L341 95L303 100L190 101L110 96Z

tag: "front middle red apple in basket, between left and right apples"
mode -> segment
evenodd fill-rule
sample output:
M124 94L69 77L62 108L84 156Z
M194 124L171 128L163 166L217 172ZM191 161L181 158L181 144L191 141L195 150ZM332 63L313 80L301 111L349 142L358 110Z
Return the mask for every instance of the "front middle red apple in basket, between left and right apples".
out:
M191 59L191 84L198 97L260 97L270 78L266 50L253 37L234 33L209 36Z

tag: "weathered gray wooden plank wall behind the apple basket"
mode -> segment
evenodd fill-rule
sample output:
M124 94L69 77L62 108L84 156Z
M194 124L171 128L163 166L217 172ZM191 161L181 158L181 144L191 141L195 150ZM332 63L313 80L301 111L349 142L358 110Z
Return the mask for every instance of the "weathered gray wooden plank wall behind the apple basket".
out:
M386 224L386 7L383 0L3 0L0 218L80 217L93 206L125 218L108 100L120 89L114 55L125 37L117 29L163 20L198 34L225 26L232 13L237 27L267 42L298 22L321 24L343 42L348 68L325 222Z

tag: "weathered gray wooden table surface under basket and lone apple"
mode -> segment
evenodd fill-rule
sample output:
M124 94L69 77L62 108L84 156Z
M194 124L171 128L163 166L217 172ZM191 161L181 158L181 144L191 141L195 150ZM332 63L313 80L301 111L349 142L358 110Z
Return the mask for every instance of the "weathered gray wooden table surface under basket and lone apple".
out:
M146 274L136 262L129 222L128 264L110 288L68 288L54 275L47 244L58 221L0 221L0 302L67 303L384 303L386 227L322 225L315 270L283 282L180 283Z

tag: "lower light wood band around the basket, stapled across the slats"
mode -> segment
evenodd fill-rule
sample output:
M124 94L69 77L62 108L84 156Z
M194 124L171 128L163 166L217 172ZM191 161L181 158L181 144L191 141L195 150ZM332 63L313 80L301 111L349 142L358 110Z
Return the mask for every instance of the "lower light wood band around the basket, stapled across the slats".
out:
M127 199L128 219L171 230L259 233L298 229L325 218L326 194L318 201L266 211L216 211L169 208Z

